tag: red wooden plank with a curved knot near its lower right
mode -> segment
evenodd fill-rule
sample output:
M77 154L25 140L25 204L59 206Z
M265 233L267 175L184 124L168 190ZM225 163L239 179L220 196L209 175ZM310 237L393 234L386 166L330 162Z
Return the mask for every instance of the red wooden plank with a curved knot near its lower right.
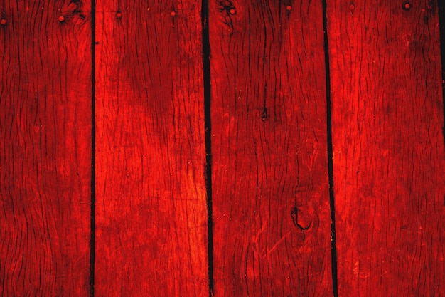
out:
M321 1L210 1L215 296L332 296Z

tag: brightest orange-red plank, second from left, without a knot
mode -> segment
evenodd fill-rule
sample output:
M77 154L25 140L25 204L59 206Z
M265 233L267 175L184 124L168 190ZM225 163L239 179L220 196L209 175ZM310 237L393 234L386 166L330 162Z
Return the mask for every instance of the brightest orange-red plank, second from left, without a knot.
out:
M207 296L200 6L98 0L96 29L96 296Z

